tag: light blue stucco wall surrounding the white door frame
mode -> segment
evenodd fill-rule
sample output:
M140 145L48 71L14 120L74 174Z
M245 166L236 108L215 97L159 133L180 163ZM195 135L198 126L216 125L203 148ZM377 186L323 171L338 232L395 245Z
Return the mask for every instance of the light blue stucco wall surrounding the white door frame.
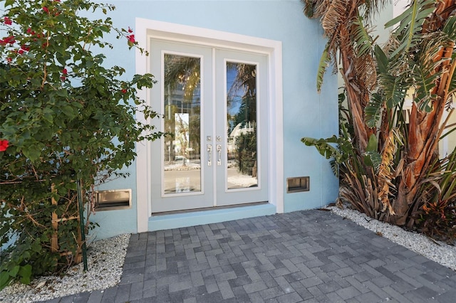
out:
M109 13L118 28L135 26L135 18L180 23L218 31L257 36L282 42L284 100L284 188L286 178L310 176L310 191L284 192L284 210L317 208L333 202L338 181L328 161L314 147L306 147L301 137L330 137L338 133L337 80L326 75L321 94L316 92L316 70L325 41L316 20L302 13L299 0L257 1L110 1L116 10ZM115 40L114 50L103 50L107 65L127 68L125 78L135 73L135 52L126 42ZM133 208L98 212L91 220L100 223L93 231L97 238L136 229L135 166L128 179L116 180L103 188L132 188Z

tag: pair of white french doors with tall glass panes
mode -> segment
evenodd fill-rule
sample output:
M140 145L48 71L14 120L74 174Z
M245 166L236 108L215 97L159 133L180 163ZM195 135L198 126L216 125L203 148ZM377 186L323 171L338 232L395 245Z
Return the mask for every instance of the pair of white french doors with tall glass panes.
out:
M266 55L152 40L152 213L268 201Z

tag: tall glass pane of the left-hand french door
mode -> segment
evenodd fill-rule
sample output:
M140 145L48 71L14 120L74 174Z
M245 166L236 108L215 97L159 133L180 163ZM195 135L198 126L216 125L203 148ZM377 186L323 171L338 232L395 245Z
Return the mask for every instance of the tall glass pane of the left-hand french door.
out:
M200 65L200 58L165 53L165 194L201 191Z

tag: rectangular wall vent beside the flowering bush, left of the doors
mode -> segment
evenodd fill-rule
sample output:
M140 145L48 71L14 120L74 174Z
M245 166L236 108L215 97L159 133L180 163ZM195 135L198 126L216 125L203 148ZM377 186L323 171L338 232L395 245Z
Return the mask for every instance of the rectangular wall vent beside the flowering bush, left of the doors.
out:
M95 211L111 211L131 207L131 189L95 191Z

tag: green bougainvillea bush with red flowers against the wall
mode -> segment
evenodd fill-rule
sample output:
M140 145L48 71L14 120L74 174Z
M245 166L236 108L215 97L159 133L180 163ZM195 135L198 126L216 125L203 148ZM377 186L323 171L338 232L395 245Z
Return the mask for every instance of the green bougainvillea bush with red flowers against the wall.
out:
M161 136L135 119L157 116L136 95L152 87L152 75L125 80L123 68L103 65L110 33L139 48L133 29L113 26L113 9L86 0L0 1L0 246L9 243L0 289L73 265L76 181L90 201L92 186L132 163L135 142Z

